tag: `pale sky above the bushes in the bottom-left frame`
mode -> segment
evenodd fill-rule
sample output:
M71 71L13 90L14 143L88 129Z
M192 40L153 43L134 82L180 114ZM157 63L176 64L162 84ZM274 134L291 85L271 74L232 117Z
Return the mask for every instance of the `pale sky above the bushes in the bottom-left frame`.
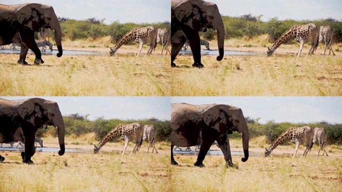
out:
M90 114L89 120L142 119L155 117L170 119L170 98L162 96L39 96L58 103L62 115ZM4 99L24 99L29 96L1 96Z

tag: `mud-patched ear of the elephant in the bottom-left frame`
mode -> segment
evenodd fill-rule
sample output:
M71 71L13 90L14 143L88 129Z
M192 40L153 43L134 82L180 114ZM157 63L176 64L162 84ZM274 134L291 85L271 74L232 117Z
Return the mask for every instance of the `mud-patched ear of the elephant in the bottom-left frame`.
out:
M41 106L31 99L22 101L18 106L18 113L22 119L30 122L35 127L41 127Z

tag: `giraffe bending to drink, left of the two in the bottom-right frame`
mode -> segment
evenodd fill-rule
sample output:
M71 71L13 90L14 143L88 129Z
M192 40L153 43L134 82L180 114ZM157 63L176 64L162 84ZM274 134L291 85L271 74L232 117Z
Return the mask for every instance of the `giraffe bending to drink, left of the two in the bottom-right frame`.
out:
M291 141L295 143L295 149L292 158L294 158L295 154L297 153L299 144L305 142L306 148L303 154L301 155L302 158L303 156L306 156L308 150L310 149L312 145L312 138L313 128L309 126L290 127L285 132L280 134L280 136L278 136L278 138L275 139L275 141L269 146L268 149L265 148L265 157L268 156L272 152L272 150L279 144L283 143L285 140L291 139Z

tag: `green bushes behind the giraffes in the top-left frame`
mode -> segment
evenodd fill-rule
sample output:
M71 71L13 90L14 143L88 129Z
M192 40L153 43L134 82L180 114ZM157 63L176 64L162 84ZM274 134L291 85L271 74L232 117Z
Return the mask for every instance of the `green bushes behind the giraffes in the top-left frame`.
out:
M85 38L96 39L98 37L110 35L112 36L112 40L116 42L125 33L127 33L134 27L143 27L151 25L157 28L167 28L168 30L170 30L171 28L170 23L167 21L156 23L120 23L119 21L113 21L111 24L104 24L104 19L96 18L88 18L85 20L75 20L68 18L60 19L60 28L63 37L69 38L71 40Z

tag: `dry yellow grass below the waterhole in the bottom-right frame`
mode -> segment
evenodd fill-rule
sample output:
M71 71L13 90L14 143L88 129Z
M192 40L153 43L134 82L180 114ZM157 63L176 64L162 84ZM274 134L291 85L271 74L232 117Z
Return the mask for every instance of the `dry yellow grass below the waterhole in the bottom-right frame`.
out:
M226 168L222 156L206 156L206 167L193 167L196 156L176 156L171 191L341 191L340 157L250 157L238 169Z

